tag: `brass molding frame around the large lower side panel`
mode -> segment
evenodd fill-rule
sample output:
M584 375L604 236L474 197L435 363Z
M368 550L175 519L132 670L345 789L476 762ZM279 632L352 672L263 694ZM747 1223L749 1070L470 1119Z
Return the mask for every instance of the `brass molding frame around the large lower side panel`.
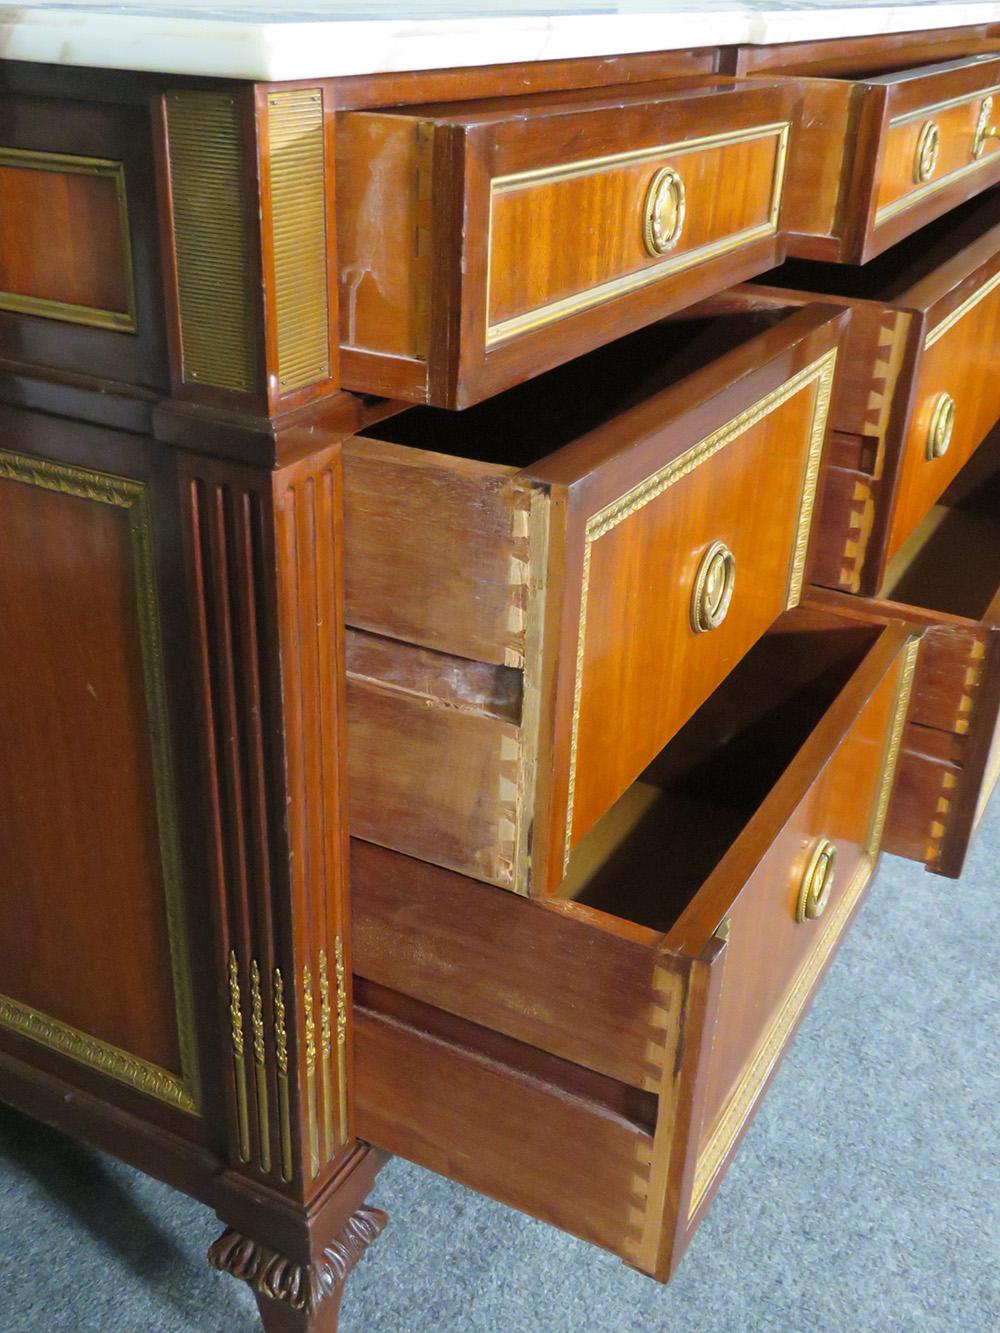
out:
M56 491L96 504L113 505L124 509L128 515L181 1074L159 1069L139 1056L128 1054L109 1042L80 1033L68 1024L41 1014L29 1005L23 1005L9 997L0 997L3 1006L0 1025L7 1025L61 1054L92 1065L100 1073L129 1084L139 1092L151 1093L161 1101L196 1114L200 1093L195 1010L187 946L180 832L167 713L167 680L160 640L149 491L144 481L136 481L131 477L119 477L67 463L53 463L48 459L36 459L7 449L0 449L0 480Z

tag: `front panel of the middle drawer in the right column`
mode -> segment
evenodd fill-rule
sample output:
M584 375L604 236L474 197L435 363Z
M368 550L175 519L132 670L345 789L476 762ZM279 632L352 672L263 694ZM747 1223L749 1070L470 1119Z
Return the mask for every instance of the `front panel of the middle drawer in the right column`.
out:
M899 551L1000 417L999 359L1000 255L995 255L928 312L884 560Z

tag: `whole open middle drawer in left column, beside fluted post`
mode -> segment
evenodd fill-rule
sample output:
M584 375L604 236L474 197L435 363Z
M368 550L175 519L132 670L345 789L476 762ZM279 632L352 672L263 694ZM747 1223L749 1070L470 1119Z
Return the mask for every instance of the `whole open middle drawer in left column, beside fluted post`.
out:
M843 319L800 311L723 355L655 325L345 443L353 833L557 885L799 601Z

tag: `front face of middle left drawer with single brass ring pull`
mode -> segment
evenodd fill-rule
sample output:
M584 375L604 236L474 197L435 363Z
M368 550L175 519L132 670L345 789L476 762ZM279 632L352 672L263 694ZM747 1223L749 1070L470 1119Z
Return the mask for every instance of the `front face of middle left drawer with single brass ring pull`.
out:
M699 404L688 381L687 413L668 415L668 427L569 488L553 881L572 846L799 601L840 327L836 312L813 308L772 331L780 355L757 339L721 359L712 371L736 380L735 396ZM747 359L756 371L743 379Z

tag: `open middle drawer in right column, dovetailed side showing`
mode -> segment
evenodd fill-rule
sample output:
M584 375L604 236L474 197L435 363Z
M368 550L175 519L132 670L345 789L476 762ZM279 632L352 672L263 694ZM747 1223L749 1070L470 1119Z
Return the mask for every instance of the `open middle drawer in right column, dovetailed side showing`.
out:
M1000 417L1000 192L863 268L793 260L692 313L764 324L817 300L843 303L851 324L809 579L876 593Z

